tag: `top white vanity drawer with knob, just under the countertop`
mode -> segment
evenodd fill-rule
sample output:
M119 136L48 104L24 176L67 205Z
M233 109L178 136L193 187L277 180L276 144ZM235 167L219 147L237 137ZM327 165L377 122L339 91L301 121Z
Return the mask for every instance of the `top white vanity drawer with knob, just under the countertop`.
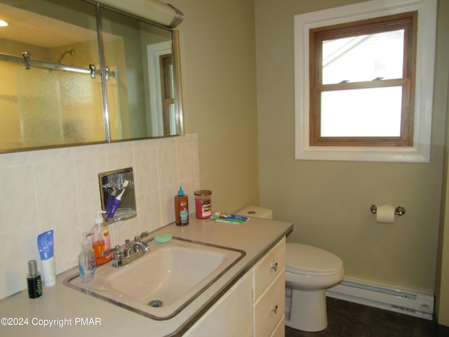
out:
M283 273L286 265L286 239L285 237L267 253L253 268L254 286L253 298L257 298L267 289L273 280Z

